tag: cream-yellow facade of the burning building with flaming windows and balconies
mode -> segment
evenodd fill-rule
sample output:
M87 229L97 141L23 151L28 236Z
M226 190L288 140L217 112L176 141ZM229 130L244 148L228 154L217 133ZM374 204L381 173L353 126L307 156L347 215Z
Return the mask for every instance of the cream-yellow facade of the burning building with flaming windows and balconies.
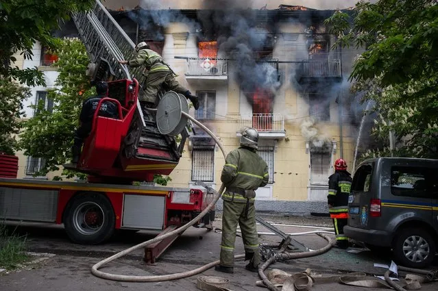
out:
M334 160L343 157L351 168L356 143L346 79L358 51L330 49L335 37L328 34L324 20L333 10L280 5L232 15L215 9L111 13L134 42L149 42L178 74L178 81L196 92L201 105L197 111L191 108L191 115L213 131L227 151L239 147L245 126L258 129L258 153L269 165L270 179L256 191L257 210L326 212ZM48 87L54 86L56 71L45 62L55 58L38 44L34 56L23 66L38 66ZM44 99L50 107L45 90L32 88L34 100L27 102ZM27 110L27 117L32 114ZM20 177L29 177L44 162L20 160ZM212 139L195 127L169 185L188 187L202 180L218 189L223 164Z

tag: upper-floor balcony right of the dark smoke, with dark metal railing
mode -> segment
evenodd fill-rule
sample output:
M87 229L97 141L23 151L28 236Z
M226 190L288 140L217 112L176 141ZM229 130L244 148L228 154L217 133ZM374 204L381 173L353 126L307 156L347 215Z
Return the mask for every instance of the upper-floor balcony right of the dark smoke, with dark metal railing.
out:
M341 60L304 60L297 68L296 78L298 83L325 79L327 81L341 81Z

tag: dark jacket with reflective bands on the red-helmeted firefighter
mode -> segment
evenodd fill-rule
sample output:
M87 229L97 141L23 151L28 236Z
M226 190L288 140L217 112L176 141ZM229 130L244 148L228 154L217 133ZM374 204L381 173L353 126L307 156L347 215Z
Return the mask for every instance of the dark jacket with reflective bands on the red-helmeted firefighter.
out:
M328 204L330 217L347 218L348 213L348 196L352 186L352 177L346 170L337 170L333 175L328 177Z

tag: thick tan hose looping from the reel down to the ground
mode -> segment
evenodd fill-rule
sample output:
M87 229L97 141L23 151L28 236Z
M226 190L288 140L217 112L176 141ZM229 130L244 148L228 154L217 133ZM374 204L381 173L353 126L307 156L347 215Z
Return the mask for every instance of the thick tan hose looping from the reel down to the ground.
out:
M206 126L204 126L202 123L197 121L192 116L188 115L186 112L182 112L184 116L186 116L188 119L193 121L196 125L204 129L206 133L215 140L217 145L219 146L219 149L221 149L223 157L225 158L227 156L226 150L223 148L223 145L221 144L220 140L215 136L215 134L210 131ZM107 257L104 260L101 260L97 264L95 264L91 268L91 273L97 277L100 277L102 279L108 279L108 280L114 280L114 281L128 281L128 282L156 282L156 281L169 281L174 279L181 279L185 277L190 277L199 273L202 273L204 270L207 270L208 268L211 268L212 266L215 266L219 264L219 261L212 262L210 264L207 264L205 266L202 266L200 268L197 268L195 270L190 270L183 273L177 273L177 274L170 274L170 275L157 275L157 276L134 276L134 275L119 275L119 274L111 274L111 273L105 273L99 270L101 266L104 266L104 264L108 264L109 262L112 262L119 257L123 257L124 255L127 255L128 253L131 253L132 251L136 251L137 249L144 248L145 246L148 246L149 244L154 244L155 242L160 242L161 240L164 240L165 238L169 238L171 236L178 235L188 229L188 227L191 227L194 225L199 219L204 217L211 209L215 206L216 202L221 197L221 194L225 190L225 186L222 184L221 188L219 188L219 191L217 192L216 196L213 198L212 202L207 205L207 207L198 214L195 218L193 218L190 222L188 222L186 225L183 225L182 227L175 229L174 231L171 231L169 233L165 233L162 236L157 236L156 238L153 238L151 240L147 240L146 242L142 242L141 244L137 244L136 246L132 246L129 249L125 249L124 251L121 251L119 253L116 253L115 255L112 255L110 257ZM237 259L245 257L245 255L238 255L236 256Z

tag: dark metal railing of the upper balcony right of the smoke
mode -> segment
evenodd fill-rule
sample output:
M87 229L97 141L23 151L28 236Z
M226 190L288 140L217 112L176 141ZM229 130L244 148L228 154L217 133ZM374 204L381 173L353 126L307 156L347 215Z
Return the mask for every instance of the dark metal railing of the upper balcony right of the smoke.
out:
M298 79L317 77L342 77L341 60L327 60L326 62L305 60L300 64L297 71Z

